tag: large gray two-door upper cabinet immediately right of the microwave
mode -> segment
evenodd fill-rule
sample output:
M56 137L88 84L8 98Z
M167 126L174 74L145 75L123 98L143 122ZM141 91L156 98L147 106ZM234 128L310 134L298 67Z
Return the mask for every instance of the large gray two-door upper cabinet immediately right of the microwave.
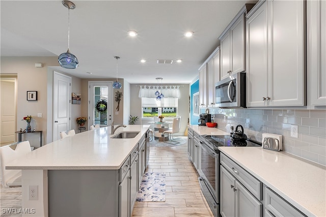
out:
M247 18L247 106L305 105L305 2L261 1Z

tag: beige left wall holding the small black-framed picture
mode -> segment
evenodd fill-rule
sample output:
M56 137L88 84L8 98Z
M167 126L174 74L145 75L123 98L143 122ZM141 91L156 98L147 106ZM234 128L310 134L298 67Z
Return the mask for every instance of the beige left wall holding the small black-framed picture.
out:
M42 68L36 68L35 63L42 63ZM43 131L43 145L52 141L52 86L53 69L59 66L58 57L2 57L1 75L17 75L17 129L24 129L26 122L21 121L24 116L33 116L32 128ZM58 71L58 70L57 70ZM58 71L60 72L60 71ZM60 72L62 73L62 72ZM63 73L64 74L64 73ZM70 76L70 75L69 75ZM72 77L72 92L80 92L80 78ZM37 101L27 101L26 91L37 91ZM80 107L80 105L79 105ZM71 128L78 129L74 119L81 114L78 106L71 107ZM42 113L42 118L37 114ZM50 126L50 127L49 127ZM25 134L22 140L29 140L32 146L39 147L39 134ZM18 141L18 137L16 137Z

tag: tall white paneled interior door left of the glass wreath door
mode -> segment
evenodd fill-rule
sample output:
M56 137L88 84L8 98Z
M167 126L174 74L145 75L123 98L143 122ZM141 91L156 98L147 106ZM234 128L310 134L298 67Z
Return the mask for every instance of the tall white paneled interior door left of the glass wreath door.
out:
M70 129L71 77L54 73L53 78L53 141L60 132Z

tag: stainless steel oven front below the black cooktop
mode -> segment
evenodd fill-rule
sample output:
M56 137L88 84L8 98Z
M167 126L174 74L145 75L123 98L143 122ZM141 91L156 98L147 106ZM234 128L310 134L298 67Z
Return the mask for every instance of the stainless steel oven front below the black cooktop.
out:
M199 183L206 201L214 216L219 216L219 175L220 154L212 150L205 142L201 143L201 167Z

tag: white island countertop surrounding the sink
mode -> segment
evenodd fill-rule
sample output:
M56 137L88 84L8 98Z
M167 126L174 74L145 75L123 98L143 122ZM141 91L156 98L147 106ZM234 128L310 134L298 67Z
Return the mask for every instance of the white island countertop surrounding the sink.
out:
M111 127L77 133L42 146L11 162L20 170L117 170L141 140L150 125L127 125L121 131L140 131L132 139L111 139Z

